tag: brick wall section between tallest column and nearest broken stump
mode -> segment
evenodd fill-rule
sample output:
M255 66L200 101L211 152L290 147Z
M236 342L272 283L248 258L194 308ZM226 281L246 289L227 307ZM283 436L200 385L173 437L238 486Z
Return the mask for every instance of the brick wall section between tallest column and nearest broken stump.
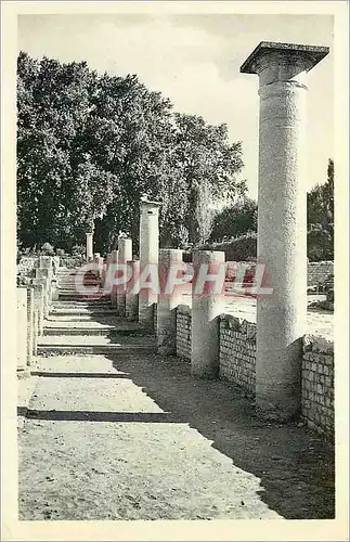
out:
M220 378L255 393L257 326L233 317L220 317L219 364Z

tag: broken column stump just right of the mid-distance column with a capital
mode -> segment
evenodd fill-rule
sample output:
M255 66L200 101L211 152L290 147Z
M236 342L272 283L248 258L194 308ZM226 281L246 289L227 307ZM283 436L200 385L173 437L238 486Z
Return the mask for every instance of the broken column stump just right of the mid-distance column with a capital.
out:
M182 263L182 250L163 248L159 250L160 294L157 306L157 346L158 353L165 356L177 352L177 307L182 300L182 288L178 285L169 287L170 279L178 275L176 271Z

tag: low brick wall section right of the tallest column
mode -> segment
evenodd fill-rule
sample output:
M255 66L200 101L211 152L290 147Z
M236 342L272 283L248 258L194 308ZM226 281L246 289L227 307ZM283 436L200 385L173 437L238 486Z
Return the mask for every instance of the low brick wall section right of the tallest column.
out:
M334 344L306 335L302 347L301 416L322 433L334 430Z

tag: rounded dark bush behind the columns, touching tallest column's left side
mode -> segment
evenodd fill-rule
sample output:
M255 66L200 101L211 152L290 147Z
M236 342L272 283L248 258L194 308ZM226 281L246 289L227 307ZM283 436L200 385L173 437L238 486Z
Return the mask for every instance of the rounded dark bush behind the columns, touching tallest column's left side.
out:
M247 197L238 197L235 203L224 207L215 217L210 240L221 242L224 237L236 237L246 232L256 232L258 225L258 205Z

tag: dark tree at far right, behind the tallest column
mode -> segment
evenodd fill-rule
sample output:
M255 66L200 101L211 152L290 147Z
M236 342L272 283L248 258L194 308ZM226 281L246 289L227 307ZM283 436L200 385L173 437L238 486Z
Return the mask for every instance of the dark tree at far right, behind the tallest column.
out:
M330 158L326 182L308 194L308 257L313 261L334 258L334 162Z

